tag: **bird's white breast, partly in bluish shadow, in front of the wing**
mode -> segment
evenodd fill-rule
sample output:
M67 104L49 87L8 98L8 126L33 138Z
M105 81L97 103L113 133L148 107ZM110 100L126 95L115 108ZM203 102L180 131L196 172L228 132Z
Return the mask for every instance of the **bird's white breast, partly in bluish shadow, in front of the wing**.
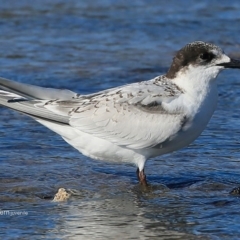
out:
M199 86L195 92L186 92L180 98L176 99L175 103L171 103L169 108L177 107L177 105L185 106L187 121L182 131L172 137L171 141L163 143L162 148L154 152L154 156L186 147L203 132L217 106L217 84L212 81L208 85Z

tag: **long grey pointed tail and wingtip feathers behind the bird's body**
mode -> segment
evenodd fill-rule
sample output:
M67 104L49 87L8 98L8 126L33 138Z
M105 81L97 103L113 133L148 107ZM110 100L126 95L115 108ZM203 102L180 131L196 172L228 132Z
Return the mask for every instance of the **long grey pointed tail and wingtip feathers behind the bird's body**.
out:
M1 90L2 89L2 90ZM0 78L0 105L24 113L35 119L68 124L68 117L44 108L51 99L69 100L77 93L69 90L43 88Z

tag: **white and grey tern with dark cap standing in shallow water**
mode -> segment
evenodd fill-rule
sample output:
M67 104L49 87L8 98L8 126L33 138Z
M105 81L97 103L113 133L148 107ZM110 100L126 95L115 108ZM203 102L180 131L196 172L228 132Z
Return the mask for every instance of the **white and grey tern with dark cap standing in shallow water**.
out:
M188 146L217 106L216 78L240 61L203 41L188 43L164 75L91 94L0 78L0 105L30 116L92 159L131 163L148 186L148 159Z

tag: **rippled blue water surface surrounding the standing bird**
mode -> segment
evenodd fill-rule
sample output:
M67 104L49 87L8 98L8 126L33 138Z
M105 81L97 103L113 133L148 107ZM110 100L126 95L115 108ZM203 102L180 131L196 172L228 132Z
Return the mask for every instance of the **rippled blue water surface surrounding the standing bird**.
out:
M177 3L177 4L176 4ZM81 93L163 74L176 50L211 41L240 58L239 1L1 1L0 76ZM93 161L0 107L1 239L240 239L240 71L190 147L135 167ZM74 194L52 202L59 188ZM24 215L23 212L27 212ZM155 238L154 238L155 237Z

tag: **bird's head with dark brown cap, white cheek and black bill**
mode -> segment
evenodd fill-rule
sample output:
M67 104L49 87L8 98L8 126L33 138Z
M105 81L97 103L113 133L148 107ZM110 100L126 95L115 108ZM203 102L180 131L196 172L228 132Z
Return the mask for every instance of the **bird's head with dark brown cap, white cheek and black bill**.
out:
M166 77L174 79L184 75L189 79L211 81L224 68L240 68L240 61L231 59L211 43L196 41L176 53Z

